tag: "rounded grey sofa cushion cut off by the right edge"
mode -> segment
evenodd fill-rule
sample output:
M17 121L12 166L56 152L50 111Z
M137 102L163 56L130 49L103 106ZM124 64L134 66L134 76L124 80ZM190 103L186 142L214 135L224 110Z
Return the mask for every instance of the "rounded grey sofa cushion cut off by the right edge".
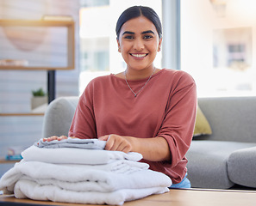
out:
M228 177L238 185L256 187L256 143L230 154Z

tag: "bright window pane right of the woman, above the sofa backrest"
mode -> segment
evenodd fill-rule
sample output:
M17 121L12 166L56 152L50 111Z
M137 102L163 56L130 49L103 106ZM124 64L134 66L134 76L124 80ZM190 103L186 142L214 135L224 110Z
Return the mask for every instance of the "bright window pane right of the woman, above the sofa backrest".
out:
M180 1L181 70L194 77L199 97L256 95L255 7L254 0Z

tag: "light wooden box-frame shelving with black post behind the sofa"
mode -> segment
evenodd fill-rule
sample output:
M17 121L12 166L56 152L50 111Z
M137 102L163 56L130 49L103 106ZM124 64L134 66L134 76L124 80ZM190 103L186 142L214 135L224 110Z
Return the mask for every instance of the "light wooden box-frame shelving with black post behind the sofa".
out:
M0 70L47 70L48 72L48 103L55 99L55 70L75 69L75 22L69 20L17 20L0 19L0 27L64 27L66 28L66 65L0 65ZM19 30L17 30L18 33ZM14 38L16 38L14 33ZM29 39L28 39L29 40ZM0 45L1 49L1 45ZM35 51L36 52L36 51ZM33 55L33 53L31 54ZM4 58L11 60L12 57ZM15 59L14 59L15 60ZM26 59L25 59L26 60ZM42 116L43 113L0 113L0 116Z

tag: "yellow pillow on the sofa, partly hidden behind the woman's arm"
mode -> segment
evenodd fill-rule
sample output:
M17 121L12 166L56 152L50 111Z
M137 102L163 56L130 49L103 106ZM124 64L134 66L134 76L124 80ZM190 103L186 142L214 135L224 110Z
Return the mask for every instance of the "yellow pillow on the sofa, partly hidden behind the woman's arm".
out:
M197 118L194 130L194 136L210 135L211 128L207 118L205 118L201 108L197 105Z

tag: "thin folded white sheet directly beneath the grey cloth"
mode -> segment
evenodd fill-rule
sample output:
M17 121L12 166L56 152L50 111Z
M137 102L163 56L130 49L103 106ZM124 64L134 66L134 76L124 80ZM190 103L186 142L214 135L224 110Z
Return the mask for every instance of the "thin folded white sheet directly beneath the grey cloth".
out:
M101 149L84 148L38 148L31 146L22 152L25 161L41 161L57 164L108 164L116 160L140 161L140 153L123 153Z

